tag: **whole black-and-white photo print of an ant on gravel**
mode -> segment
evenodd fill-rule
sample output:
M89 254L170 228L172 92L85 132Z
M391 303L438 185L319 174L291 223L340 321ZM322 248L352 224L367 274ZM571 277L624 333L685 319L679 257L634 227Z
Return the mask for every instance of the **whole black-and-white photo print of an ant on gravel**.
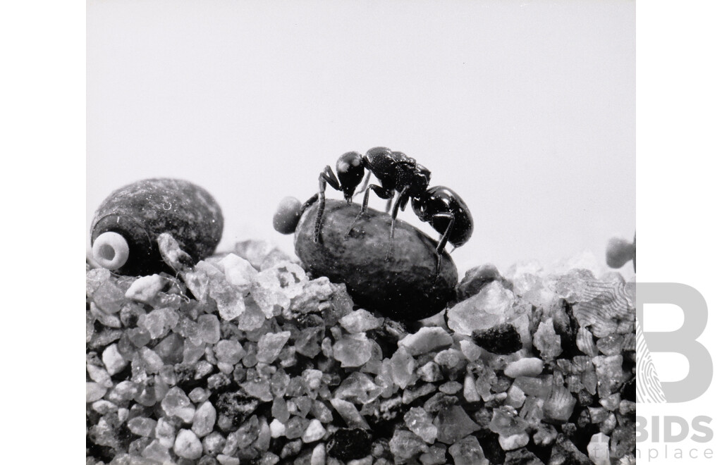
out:
M87 465L640 459L635 1L86 7Z

